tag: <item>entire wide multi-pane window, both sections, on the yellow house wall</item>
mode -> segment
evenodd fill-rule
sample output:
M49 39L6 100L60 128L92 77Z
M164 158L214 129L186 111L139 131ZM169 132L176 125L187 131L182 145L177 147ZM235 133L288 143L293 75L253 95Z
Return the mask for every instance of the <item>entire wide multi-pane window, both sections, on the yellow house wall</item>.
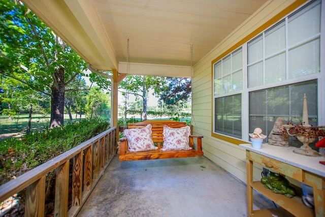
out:
M304 94L309 123L318 124L321 7L310 2L213 64L213 133L269 135L278 117L301 120Z

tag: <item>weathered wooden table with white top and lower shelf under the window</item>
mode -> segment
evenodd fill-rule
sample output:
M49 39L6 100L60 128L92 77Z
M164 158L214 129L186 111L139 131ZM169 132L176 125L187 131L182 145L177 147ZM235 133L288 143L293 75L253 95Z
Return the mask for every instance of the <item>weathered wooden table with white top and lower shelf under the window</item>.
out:
M289 212L294 216L325 216L325 165L319 163L325 161L324 154L321 157L307 157L294 153L296 147L279 147L267 143L263 143L261 149L253 148L251 144L239 146L246 149L248 216L274 216L278 212ZM264 188L261 181L253 181L253 162L313 187L315 209L307 208L303 204L301 194L287 198ZM280 207L253 210L253 189Z

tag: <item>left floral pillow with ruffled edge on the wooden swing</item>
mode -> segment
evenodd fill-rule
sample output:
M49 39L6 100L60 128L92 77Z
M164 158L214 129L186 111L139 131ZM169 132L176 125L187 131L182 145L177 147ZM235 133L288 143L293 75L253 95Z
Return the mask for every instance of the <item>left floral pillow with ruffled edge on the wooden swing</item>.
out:
M127 138L128 150L130 152L155 150L151 138L151 125L145 128L134 128L124 130L124 135Z

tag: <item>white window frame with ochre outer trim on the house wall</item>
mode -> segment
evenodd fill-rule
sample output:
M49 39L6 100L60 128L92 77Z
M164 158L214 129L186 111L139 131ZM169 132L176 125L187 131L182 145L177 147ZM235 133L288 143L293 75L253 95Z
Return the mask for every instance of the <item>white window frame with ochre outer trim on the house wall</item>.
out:
M296 8L295 10L291 11L289 14L287 14L285 17L280 17L281 19L277 19L276 22L273 25L269 25L266 26L266 28L263 28L263 30L261 32L257 32L255 30L255 32L253 32L251 35L249 35L248 37L244 38L241 42L242 43L238 43L239 45L242 44L241 46L234 46L233 48L229 49L228 51L224 52L223 54L221 54L218 58L214 59L211 62L211 67L212 67L212 126L211 126L211 135L213 137L216 138L220 138L223 140L227 140L230 142L233 142L235 144L240 144L242 143L242 141L248 142L249 141L249 135L248 135L248 131L249 131L249 93L255 90L261 90L261 89L267 89L267 88L273 88L273 87L278 87L278 86L282 86L282 85L290 85L290 84L294 84L294 83L300 83L303 81L309 81L309 80L317 80L317 119L318 119L318 125L319 126L324 126L325 125L325 111L322 111L322 108L325 108L325 100L321 99L321 92L325 92L325 76L323 75L325 72L325 61L321 61L321 59L325 59L325 49L322 49L323 47L325 47L325 22L323 21L323 18L325 16L325 13L321 13L320 14L320 34L319 34L319 39L320 39L320 51L319 51L319 58L320 58L320 72L318 73L314 73L314 74L309 74L309 75L305 75L305 76L301 76L301 77L296 77L296 78L286 78L285 80L282 81L277 81L274 83L266 83L263 85L258 85L258 86L254 86L254 87L248 87L248 43L252 40L254 40L255 38L257 38L260 35L264 35L265 32L267 32L268 30L270 30L273 26L278 25L279 23L281 23L281 21L285 21L285 25L287 25L288 22L288 17L290 15L293 15L295 12L297 12L298 10L300 10L301 8L303 8L304 6L308 5L308 4L315 4L313 3L314 1L308 1L305 4L301 5L300 7ZM317 2L317 1L315 1ZM320 1L320 4L322 2ZM325 4L321 4L321 12L325 11ZM323 37L322 37L323 36ZM287 36L285 36L287 38ZM264 39L263 39L264 40ZM224 57L230 55L231 53L235 52L236 50L238 50L239 48L242 48L242 79L243 79L243 83L242 83L242 90L240 91L234 91L234 92L228 92L225 94L220 94L220 95L215 95L215 87L214 87L214 78L215 78L215 64L223 59ZM286 45L286 50L289 49L288 45ZM287 55L287 54L286 54ZM287 57L287 56L286 56ZM264 61L265 56L263 57L263 61ZM287 58L285 60L286 63L286 68L287 68ZM264 71L263 71L264 73ZM288 74L288 72L286 72L286 74ZM323 76L322 76L323 75ZM215 118L215 99L219 98L219 97L225 97L225 96L232 96L232 95L236 95L236 94L241 94L242 96L242 138L236 138L233 136L229 136L229 135L225 135L222 133L217 133L215 131L215 126L216 126L216 118ZM324 94L323 94L324 96ZM325 109L323 109L325 110Z

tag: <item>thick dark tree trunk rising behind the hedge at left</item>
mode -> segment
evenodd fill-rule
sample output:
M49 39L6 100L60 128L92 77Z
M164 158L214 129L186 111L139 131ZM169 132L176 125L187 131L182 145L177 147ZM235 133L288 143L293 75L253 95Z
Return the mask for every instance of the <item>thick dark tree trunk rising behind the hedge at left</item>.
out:
M58 127L63 124L64 112L64 95L66 85L64 84L64 68L60 67L55 70L54 76L57 83L51 86L51 121L50 128Z

